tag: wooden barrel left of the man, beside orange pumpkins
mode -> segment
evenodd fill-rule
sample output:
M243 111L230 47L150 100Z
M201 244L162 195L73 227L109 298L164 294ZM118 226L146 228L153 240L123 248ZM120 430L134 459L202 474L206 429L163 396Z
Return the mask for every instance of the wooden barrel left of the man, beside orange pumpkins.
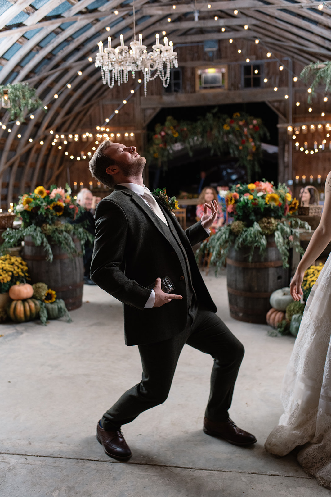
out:
M81 306L84 283L84 265L80 242L73 239L78 254L72 258L59 246L51 245L54 259L46 260L44 248L36 247L31 237L24 238L23 259L26 261L31 282L46 283L54 290L58 299L63 299L68 311Z

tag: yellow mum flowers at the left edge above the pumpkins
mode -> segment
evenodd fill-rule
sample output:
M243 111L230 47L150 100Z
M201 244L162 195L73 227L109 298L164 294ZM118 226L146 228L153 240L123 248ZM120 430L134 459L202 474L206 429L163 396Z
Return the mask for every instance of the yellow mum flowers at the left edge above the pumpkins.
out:
M28 266L16 255L0 256L0 293L6 293L15 283L30 280Z

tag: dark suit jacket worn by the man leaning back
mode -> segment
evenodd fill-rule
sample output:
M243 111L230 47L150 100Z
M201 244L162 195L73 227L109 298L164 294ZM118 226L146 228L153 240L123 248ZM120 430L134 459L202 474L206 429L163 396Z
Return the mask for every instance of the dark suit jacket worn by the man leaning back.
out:
M102 199L95 212L90 275L99 287L123 302L127 345L166 340L184 330L191 303L185 282L190 277L188 272L199 304L216 312L192 250L192 245L208 236L206 231L199 222L184 232L172 212L155 198L175 237L169 236L169 229L141 197L124 186ZM189 271L180 261L180 245L185 249ZM174 293L183 299L144 309L150 296L146 286L163 276L169 276Z

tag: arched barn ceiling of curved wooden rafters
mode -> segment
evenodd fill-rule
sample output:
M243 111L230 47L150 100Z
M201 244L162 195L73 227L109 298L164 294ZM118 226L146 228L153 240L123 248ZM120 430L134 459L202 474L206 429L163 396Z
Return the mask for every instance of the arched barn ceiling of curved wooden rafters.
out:
M10 134L0 128L0 192L2 184L1 198L8 203L15 188L24 191L27 183L33 188L40 180L48 184L56 179L66 162L50 146L50 130L79 127L91 106L109 92L94 67L97 42L105 43L111 36L116 46L121 32L125 42L133 37L132 0L48 0L39 8L31 0L10 2L0 13L0 84L31 83L49 110L35 112L35 118L24 124L8 125ZM322 10L320 4L315 0L134 1L136 31L148 46L155 33L163 30L175 45L257 39L267 50L301 66L331 59L331 0L323 1ZM1 123L7 126L8 122L8 115L3 114ZM19 140L17 134L21 134ZM20 174L19 169L23 169Z

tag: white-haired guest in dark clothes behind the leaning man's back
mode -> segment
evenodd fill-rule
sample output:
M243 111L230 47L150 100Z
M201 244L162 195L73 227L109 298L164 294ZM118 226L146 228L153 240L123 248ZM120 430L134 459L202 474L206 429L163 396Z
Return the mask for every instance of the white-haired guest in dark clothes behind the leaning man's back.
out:
M84 228L87 230L93 237L95 237L95 221L94 216L90 212L92 207L93 195L90 190L87 188L82 188L80 192L77 194L77 203L81 205L85 212L78 216L73 223L84 223ZM90 267L93 253L93 245L87 240L85 242L85 254L83 256L84 261L84 283L86 285L95 285L93 281L90 279Z

